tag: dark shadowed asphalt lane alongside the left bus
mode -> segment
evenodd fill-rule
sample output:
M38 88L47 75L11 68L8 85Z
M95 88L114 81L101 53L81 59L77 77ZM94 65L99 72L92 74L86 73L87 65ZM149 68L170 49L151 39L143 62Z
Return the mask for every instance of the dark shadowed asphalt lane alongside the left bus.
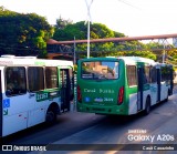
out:
M103 115L71 112L58 116L53 125L40 124L2 138L2 144L49 144L91 127L101 121Z

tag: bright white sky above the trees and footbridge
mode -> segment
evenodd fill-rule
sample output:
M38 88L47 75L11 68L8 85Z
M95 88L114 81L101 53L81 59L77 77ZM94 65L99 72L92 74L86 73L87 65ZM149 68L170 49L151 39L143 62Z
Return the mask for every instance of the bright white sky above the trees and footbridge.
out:
M0 0L0 6L20 13L38 13L50 24L56 19L74 23L87 20L92 0ZM177 0L93 0L91 21L128 37L177 33Z

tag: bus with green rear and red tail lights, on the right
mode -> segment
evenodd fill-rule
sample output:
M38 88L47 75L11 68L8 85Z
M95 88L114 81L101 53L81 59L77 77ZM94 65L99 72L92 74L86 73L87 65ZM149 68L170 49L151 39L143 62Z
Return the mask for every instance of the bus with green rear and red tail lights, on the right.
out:
M76 89L79 112L148 114L173 94L173 66L138 57L82 59Z

